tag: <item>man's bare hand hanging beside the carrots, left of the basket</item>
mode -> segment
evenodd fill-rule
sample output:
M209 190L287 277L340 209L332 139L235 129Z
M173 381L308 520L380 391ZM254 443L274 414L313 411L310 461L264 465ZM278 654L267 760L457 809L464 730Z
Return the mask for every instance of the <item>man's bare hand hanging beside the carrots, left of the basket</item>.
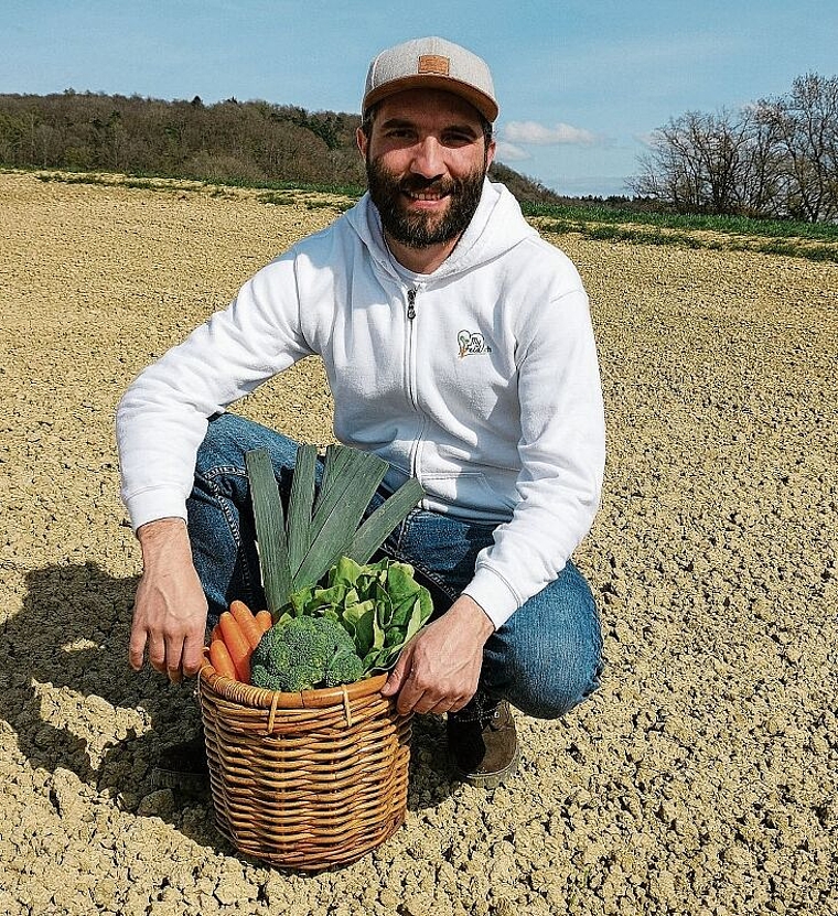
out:
M186 524L161 518L141 526L143 574L137 588L129 645L131 667L149 664L169 680L201 668L207 604L192 562Z

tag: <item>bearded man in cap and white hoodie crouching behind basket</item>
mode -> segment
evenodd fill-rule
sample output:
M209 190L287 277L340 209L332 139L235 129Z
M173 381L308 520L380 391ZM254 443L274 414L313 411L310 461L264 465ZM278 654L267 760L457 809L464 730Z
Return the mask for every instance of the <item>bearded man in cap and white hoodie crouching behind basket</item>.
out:
M604 464L588 300L486 180L497 111L463 47L379 54L357 134L368 194L142 373L117 419L144 564L130 661L147 653L178 680L201 665L207 606L212 623L234 597L261 601L244 453L267 448L283 486L294 460L296 443L224 410L319 354L337 439L389 462L383 493L409 475L427 493L385 548L443 601L385 692L447 713L460 776L485 787L517 766L508 703L565 713L597 688L602 646L569 559Z

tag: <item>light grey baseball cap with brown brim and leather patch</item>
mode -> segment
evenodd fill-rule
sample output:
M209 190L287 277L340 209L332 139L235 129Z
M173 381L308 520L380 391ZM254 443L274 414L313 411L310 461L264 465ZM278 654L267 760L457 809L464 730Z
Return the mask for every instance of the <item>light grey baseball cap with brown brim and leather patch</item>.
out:
M488 121L497 118L492 74L485 61L445 39L427 37L388 47L375 57L367 72L366 110L402 89L444 89L473 105Z

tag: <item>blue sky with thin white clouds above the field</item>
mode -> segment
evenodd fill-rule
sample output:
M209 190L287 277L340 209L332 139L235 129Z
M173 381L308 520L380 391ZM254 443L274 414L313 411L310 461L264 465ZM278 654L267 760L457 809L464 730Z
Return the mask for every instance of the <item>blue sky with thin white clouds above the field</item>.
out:
M565 194L626 193L689 110L838 74L835 0L0 0L0 93L235 96L357 111L369 60L437 34L490 64L498 159Z

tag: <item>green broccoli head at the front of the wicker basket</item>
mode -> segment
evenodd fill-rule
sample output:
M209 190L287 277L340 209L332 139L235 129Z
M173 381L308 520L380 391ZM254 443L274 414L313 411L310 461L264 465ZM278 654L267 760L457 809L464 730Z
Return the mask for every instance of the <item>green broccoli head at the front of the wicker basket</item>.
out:
M262 636L250 658L251 682L268 690L337 687L363 675L352 636L332 617L280 621Z

